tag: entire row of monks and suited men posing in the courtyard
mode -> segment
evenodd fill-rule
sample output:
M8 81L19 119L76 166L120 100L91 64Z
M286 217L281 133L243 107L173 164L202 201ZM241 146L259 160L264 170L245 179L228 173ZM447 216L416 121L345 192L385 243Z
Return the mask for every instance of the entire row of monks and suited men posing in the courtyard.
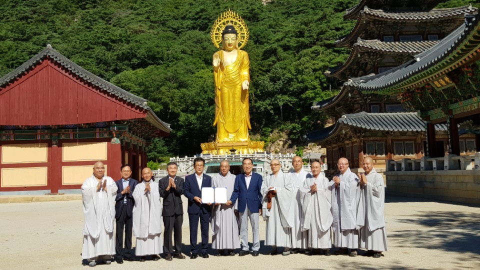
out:
M366 255L380 257L386 251L383 177L373 168L370 157L363 159L365 172L357 174L350 171L346 158L340 158L340 173L331 181L320 173L317 161L311 163L311 173L306 173L300 156L293 157L294 171L288 173L282 172L278 159L272 159L272 173L265 179L252 171L250 158L243 159L243 173L238 175L230 173L228 160L220 162L220 171L213 177L203 173L203 158L197 157L193 163L195 173L185 179L176 176L177 164L169 162L167 176L154 181L151 170L144 168L139 182L130 177L128 164L121 166L122 178L114 181L104 175L103 163L96 162L93 174L81 186L85 219L82 258L90 266L98 261L109 264L113 258L117 263L134 260L133 230L135 255L140 261L158 260L160 253L166 260L184 259L181 195L188 203L190 259L209 257L209 234L215 255L233 256L240 248L239 256L250 252L258 256L260 216L266 221L265 245L272 247L271 255L282 247L282 255L304 251L328 256L332 242L339 248L334 254L356 256L357 248L365 248ZM202 203L202 187L226 187L229 199L226 203Z

